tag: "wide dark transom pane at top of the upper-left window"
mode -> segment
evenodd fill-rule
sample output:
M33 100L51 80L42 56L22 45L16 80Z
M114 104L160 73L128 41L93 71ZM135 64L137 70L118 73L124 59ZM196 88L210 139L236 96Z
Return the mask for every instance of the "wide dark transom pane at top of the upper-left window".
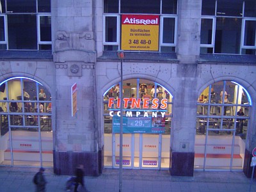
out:
M12 13L36 13L36 0L8 0L7 11Z

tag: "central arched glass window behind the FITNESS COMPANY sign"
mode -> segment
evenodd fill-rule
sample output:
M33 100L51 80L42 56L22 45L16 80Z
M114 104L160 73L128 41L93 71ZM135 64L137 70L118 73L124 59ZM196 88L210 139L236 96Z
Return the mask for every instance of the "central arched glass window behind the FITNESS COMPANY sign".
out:
M169 168L172 95L145 79L125 80L123 89L124 167ZM115 84L104 93L105 167L119 167L120 92Z

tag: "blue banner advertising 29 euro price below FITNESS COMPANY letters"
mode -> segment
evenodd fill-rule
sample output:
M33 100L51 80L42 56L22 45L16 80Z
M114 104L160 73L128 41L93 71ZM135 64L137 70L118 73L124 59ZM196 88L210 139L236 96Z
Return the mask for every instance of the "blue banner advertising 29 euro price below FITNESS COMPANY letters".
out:
M164 117L123 116L124 133L162 133L164 128ZM120 132L120 116L113 116L113 133L118 132Z

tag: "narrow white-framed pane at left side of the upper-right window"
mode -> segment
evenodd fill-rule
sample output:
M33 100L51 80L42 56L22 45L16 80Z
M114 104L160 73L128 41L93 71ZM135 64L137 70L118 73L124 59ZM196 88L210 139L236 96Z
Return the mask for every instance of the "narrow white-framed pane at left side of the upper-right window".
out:
M212 19L201 20L201 44L212 44Z

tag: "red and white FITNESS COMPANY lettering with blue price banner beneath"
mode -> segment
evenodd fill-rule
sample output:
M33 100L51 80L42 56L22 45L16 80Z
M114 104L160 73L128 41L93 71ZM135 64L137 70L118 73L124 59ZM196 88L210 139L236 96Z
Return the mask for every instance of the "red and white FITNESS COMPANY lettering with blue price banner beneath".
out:
M125 116L123 132L125 133L162 133L165 131L165 113L167 99L157 98L150 103L149 99L124 98ZM120 132L120 102L109 98L109 116L112 116L112 131ZM113 105L115 106L114 108Z

